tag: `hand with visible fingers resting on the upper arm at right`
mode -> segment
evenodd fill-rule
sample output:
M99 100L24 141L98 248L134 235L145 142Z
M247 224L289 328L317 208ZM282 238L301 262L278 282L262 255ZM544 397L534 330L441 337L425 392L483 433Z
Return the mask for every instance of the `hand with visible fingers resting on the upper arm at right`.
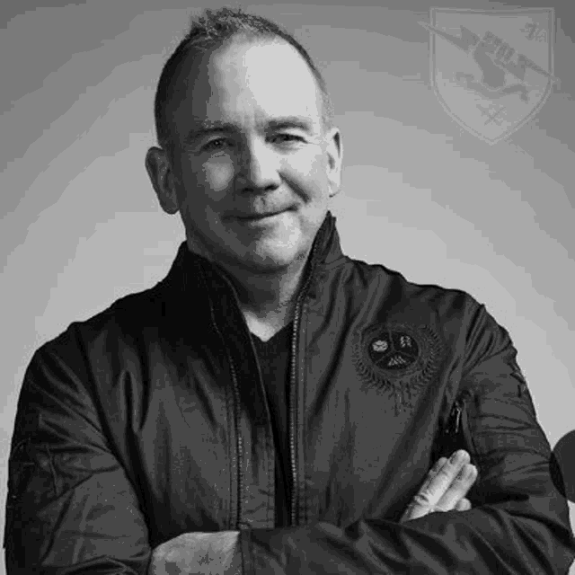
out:
M467 511L471 502L467 491L477 479L477 468L469 464L469 454L460 449L449 459L441 457L431 468L400 523L424 517L434 511Z

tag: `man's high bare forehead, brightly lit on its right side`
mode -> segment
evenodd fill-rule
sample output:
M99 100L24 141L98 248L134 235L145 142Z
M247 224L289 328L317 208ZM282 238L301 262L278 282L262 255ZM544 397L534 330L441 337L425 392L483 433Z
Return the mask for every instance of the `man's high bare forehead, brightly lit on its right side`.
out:
M176 80L177 131L204 120L238 125L300 116L321 122L321 93L296 49L284 40L228 41L189 58Z

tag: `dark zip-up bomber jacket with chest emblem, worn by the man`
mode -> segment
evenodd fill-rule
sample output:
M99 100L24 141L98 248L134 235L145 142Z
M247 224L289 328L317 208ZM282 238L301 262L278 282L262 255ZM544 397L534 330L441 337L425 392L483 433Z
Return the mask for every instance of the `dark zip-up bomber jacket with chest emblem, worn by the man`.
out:
M186 532L240 532L248 575L567 573L575 544L509 333L463 291L341 252L305 267L288 389L290 521L258 360L226 272L181 243L165 279L31 358L9 460L8 575L146 573ZM473 509L400 523L464 448Z

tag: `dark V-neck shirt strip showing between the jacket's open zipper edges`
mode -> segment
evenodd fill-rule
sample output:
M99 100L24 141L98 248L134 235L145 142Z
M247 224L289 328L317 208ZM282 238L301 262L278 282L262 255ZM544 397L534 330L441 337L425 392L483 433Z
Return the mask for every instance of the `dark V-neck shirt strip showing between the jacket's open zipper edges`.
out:
M252 333L258 354L263 385L268 394L271 426L276 444L276 526L289 525L289 464L288 400L289 360L291 356L292 323L288 323L268 341Z

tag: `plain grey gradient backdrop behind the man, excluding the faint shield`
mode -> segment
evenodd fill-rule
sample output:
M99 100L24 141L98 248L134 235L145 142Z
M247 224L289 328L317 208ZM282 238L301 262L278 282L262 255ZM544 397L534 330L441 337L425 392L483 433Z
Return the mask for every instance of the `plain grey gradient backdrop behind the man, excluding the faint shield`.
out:
M517 4L348 3L244 4L295 31L323 64L345 151L332 207L343 249L487 305L519 350L554 446L575 429L575 3L520 4L555 8L562 84L495 146L460 128L429 88L429 32L418 22L429 22L434 4ZM155 83L190 11L223 4L0 4L2 532L13 418L32 353L162 279L184 237L144 169Z

